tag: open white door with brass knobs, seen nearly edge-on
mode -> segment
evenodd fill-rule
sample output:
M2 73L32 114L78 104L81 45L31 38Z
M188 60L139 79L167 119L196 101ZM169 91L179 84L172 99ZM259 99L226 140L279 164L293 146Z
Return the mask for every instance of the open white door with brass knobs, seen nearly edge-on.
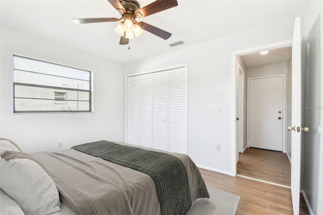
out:
M295 19L292 46L292 157L291 191L294 214L299 213L301 165L301 34L300 18Z

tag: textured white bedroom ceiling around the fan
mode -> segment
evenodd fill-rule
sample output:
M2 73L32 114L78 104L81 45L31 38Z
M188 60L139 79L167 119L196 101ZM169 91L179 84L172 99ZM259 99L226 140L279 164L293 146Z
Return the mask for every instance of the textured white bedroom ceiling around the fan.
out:
M116 22L75 24L74 18L117 17L106 0L6 1L1 0L1 25L88 51L116 62L129 63L219 37L294 20L304 15L308 1L177 0L178 6L139 19L171 32L163 40L149 32L128 45L119 45ZM153 1L139 0L141 7ZM168 44L184 40L176 47Z

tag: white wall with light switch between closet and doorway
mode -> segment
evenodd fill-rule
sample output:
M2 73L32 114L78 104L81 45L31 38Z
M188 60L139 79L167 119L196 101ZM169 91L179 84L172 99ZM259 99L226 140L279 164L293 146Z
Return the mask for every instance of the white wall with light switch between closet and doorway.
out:
M293 26L294 20L290 20L174 50L127 64L125 71L137 73L188 63L188 154L199 166L231 174L231 132L235 126L231 116L232 52L289 40ZM214 112L213 104L221 104L222 111ZM221 151L216 151L216 144L221 144Z

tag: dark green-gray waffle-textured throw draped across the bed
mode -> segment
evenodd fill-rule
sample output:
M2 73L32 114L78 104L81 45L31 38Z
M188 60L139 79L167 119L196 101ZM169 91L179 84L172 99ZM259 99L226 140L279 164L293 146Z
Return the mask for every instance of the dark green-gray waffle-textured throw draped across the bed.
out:
M192 206L187 172L176 156L109 141L72 148L149 175L155 183L164 215L186 214Z

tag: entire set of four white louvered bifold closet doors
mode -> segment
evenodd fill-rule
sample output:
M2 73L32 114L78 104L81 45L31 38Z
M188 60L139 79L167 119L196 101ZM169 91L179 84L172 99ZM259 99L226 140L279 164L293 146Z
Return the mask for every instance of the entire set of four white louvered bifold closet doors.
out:
M187 67L127 78L131 144L187 153Z

